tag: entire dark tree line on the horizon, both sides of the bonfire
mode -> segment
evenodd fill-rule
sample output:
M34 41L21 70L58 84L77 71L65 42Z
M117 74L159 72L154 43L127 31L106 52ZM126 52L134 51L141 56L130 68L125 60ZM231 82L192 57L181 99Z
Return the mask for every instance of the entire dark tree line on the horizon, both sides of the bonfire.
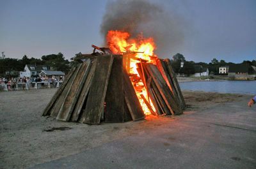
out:
M209 63L186 61L184 55L179 53L173 55L171 62L175 73L184 73L186 75L193 75L195 73L195 65L201 65L204 68L208 68L210 73L217 75L218 68L220 66L231 66L232 64L235 64L233 62L225 62L224 60L218 61L216 58L212 59L212 61ZM181 62L184 63L183 68L180 68ZM0 77L4 77L6 71L23 71L26 64L46 65L51 67L51 70L58 70L68 73L70 70L70 64L72 64L72 62L65 59L61 52L58 54L43 55L41 59L36 59L34 57L29 58L27 55L24 55L22 59L0 59ZM250 64L252 66L256 66L256 61L243 61L241 64Z

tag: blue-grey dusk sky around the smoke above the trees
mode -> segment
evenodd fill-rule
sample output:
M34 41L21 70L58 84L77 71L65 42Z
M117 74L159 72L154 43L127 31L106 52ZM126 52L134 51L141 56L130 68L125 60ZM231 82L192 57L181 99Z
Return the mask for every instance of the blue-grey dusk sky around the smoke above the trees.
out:
M162 6L166 15L182 20L182 24L178 22L183 34L179 44L170 45L170 52L159 57L171 58L180 53L187 61L195 62L211 62L212 58L227 62L256 59L255 0L150 2ZM70 59L79 52L92 53L92 44L104 45L100 25L107 3L0 0L0 52L19 59L25 54L40 58L62 52Z

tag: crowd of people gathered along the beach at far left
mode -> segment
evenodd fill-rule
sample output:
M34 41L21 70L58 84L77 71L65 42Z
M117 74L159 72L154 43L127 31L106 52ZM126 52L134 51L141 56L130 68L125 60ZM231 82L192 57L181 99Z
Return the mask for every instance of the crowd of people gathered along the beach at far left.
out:
M38 86L44 87L45 85L48 85L50 82L51 87L56 87L58 82L62 82L63 77L47 77L47 76L39 76L39 77L23 77L23 78L1 78L0 77L0 85L1 90L7 85L8 91L12 90L20 90L25 89L26 87L35 87L35 85L38 84ZM18 88L18 89L17 89Z

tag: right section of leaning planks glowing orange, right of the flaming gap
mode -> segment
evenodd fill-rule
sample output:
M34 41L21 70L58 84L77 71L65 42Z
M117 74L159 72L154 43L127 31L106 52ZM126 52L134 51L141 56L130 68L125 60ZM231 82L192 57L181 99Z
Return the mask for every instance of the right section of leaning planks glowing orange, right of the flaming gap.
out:
M156 109L156 115L183 113L185 101L169 59L156 59L156 65L138 63L137 70Z

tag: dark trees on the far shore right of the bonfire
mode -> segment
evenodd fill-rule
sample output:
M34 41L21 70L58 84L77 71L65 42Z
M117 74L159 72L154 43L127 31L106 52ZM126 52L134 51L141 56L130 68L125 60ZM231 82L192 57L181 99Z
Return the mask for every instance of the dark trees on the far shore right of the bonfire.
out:
M180 67L181 62L184 63L183 68ZM175 54L172 57L171 60L172 68L175 71L175 73L184 73L186 75L193 75L195 73L195 66L201 65L204 68L208 68L210 73L213 73L214 75L218 74L218 70L220 66L232 66L236 63L233 62L225 62L224 60L218 61L218 59L214 58L211 62L194 62L194 61L186 61L186 58L182 54ZM249 64L252 66L256 66L256 61L243 61L239 64Z

